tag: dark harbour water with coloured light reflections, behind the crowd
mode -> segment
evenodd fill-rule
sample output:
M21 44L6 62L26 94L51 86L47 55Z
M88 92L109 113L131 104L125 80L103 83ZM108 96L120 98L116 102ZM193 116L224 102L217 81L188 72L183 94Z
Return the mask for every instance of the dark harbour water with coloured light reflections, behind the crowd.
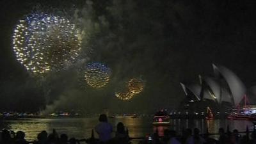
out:
M206 132L208 127L210 133L217 133L220 127L227 129L227 125L230 127L230 131L238 129L238 131L246 131L246 125L250 130L253 129L252 122L239 121L239 120L201 120L201 119L173 119L171 125L168 127L153 127L152 118L109 118L109 122L113 125L114 131L115 125L118 122L123 122L125 127L129 129L129 135L131 138L145 137L147 134L152 134L154 131L158 131L159 135L163 135L164 129L173 129L178 134L182 129L197 127L201 132ZM40 131L51 132L52 129L56 129L58 134L67 133L69 138L89 138L92 133L92 129L98 124L98 118L44 118L44 119L26 119L26 120L10 120L1 122L0 128L12 129L12 131L24 131L26 133L26 139L29 141L36 140L36 136ZM114 136L113 132L113 136ZM97 134L95 134L97 138ZM217 138L217 136L214 136Z

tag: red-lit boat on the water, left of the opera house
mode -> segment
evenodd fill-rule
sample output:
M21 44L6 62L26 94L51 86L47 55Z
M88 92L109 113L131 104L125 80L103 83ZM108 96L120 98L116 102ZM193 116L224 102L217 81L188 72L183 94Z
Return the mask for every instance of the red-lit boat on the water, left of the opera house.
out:
M158 111L153 117L153 125L170 125L170 116L168 115L167 111L164 111L163 109L161 111Z

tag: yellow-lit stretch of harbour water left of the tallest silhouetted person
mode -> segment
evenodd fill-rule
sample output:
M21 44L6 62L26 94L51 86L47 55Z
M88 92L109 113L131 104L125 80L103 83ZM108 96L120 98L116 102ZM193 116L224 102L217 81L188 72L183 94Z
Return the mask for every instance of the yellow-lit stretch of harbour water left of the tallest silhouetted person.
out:
M27 140L35 140L39 132L45 130L51 132L52 129L61 133L67 133L68 136L75 138L90 137L93 126L97 124L95 118L56 118L56 119L29 119L29 120L10 120L4 122L7 129L12 131L26 132ZM92 125L93 124L93 125Z

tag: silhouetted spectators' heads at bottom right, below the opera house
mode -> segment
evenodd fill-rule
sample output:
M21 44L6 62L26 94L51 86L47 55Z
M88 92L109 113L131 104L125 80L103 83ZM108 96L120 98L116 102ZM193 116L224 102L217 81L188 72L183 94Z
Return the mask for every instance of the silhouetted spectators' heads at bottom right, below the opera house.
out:
M176 131L169 129L164 130L164 136L159 137L157 132L148 136L147 139L141 141L140 144L256 144L256 131L251 134L245 133L243 136L239 134L237 129L233 132L225 132L223 128L219 129L219 138L215 140L209 137L209 134L200 134L199 129L185 129L181 136L176 135Z

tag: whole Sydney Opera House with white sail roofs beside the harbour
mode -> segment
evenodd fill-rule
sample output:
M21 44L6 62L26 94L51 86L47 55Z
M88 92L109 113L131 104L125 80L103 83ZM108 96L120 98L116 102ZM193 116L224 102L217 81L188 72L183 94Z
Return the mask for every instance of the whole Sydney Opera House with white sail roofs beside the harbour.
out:
M212 68L212 76L199 76L196 84L180 83L190 102L210 101L215 106L225 103L232 108L253 104L253 96L256 94L255 86L246 89L241 79L226 67L212 64Z

